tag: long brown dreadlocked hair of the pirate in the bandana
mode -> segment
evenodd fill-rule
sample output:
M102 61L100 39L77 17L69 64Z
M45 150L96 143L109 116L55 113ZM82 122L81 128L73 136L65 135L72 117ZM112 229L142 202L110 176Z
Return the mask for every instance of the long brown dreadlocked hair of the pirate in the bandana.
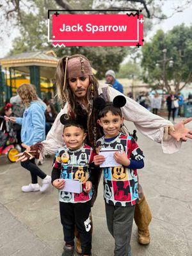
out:
M100 138L101 133L99 126L97 125L97 109L93 108L93 100L99 96L98 87L99 83L95 76L89 75L90 86L88 86L88 91L86 94L88 100L88 109L85 109L81 100L79 100L72 90L70 89L70 85L68 83L68 79L65 81L65 86L63 88L64 80L65 80L65 70L68 60L72 58L84 58L88 60L82 54L75 54L72 56L63 56L58 63L58 67L56 69L56 86L57 86L57 94L58 99L61 102L61 105L64 106L66 102L68 102L70 106L70 111L68 115L70 118L76 118L77 115L87 116L87 128L88 128L88 140L87 143L90 144L93 148L96 147L96 141ZM89 60L88 60L89 61Z

